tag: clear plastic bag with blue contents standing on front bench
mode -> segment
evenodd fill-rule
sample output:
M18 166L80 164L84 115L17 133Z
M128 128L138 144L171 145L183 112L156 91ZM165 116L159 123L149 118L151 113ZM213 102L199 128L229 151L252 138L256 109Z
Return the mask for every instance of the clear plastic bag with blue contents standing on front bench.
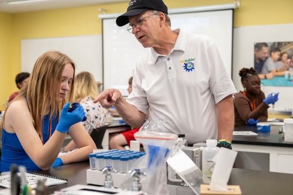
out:
M177 142L177 135L139 131L134 137L146 151L146 157L140 160L140 167L144 167L140 169L146 173L146 177L141 178L142 191L151 195L168 195L166 161Z

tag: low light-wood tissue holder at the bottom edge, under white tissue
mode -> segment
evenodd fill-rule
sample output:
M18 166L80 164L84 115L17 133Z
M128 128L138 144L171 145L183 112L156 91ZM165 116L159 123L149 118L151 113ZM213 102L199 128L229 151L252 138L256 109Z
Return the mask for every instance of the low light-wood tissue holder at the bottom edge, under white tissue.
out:
M242 195L240 186L227 185L228 191L210 191L209 185L200 185L200 195Z

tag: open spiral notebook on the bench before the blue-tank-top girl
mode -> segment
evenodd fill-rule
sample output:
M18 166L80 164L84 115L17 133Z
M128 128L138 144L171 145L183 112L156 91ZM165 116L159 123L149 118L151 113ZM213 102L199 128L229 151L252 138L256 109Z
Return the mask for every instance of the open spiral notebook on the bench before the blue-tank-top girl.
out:
M18 173L19 176L21 176L21 173ZM67 183L67 179L55 177L55 176L46 176L34 172L26 172L25 173L26 178L26 185L31 188L36 188L37 183L39 179L42 179L44 181L45 186L53 186L53 185L59 185L63 183ZM0 176L0 186L4 188L10 188L11 184L11 177L9 175Z

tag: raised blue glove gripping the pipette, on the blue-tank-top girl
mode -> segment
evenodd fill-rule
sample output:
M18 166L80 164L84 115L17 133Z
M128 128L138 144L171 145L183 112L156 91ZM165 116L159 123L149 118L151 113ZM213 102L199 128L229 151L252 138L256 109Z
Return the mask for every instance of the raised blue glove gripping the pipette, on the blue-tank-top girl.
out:
M68 112L67 109L70 102L67 102L61 111L59 123L57 124L56 130L61 133L67 133L71 125L81 122L84 119L85 112L81 105L78 105L75 109Z

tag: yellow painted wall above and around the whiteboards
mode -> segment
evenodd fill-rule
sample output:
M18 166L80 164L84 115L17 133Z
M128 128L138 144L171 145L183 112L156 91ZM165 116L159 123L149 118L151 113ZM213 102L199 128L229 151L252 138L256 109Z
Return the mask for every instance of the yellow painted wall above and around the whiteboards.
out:
M234 0L164 0L169 9L233 3ZM14 78L21 71L21 39L102 34L99 8L106 14L126 11L128 3L5 14L0 13L0 109L17 91ZM293 23L293 0L241 0L234 12L234 27Z

